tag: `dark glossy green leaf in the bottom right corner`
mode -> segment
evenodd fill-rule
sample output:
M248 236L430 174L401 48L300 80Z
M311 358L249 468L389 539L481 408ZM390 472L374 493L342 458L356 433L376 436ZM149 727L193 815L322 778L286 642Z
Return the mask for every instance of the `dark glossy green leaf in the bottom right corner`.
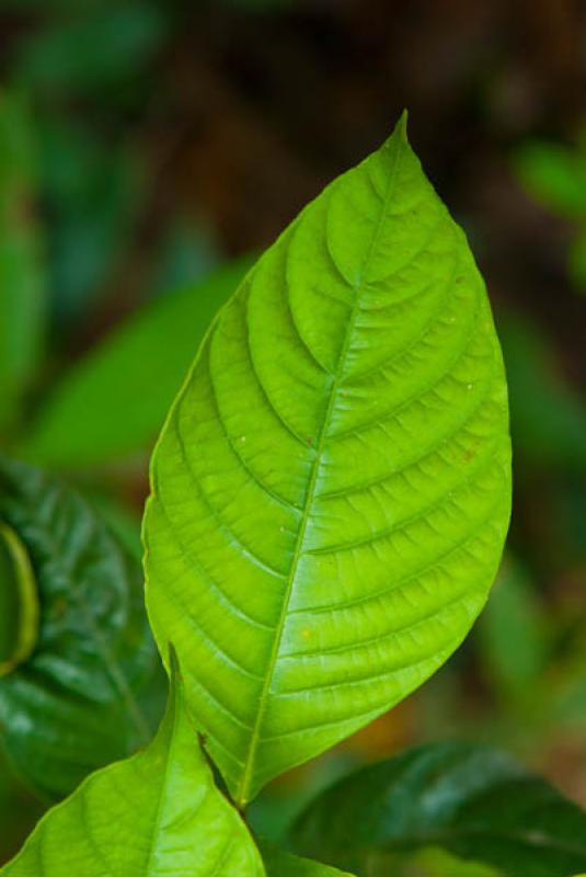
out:
M507 877L567 877L586 866L586 812L504 753L440 743L326 789L294 840L300 853L359 877L372 856L432 845Z

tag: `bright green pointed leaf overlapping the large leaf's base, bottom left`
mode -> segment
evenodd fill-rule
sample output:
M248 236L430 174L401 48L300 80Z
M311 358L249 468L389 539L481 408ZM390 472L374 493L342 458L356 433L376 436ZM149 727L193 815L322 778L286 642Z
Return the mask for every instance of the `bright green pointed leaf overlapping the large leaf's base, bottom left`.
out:
M2 877L262 877L240 815L214 784L172 684L146 752L89 777L41 821Z

